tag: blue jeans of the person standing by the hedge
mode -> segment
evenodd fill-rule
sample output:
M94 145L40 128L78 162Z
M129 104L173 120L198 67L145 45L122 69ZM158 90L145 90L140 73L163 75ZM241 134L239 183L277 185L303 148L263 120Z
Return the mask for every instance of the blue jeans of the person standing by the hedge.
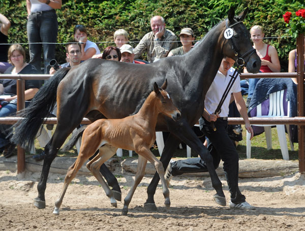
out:
M49 61L55 58L58 22L55 10L31 13L27 19L27 38L32 65L41 72L41 49L43 48L44 74L49 74ZM43 43L43 44L31 44Z

